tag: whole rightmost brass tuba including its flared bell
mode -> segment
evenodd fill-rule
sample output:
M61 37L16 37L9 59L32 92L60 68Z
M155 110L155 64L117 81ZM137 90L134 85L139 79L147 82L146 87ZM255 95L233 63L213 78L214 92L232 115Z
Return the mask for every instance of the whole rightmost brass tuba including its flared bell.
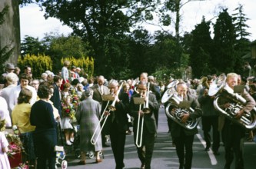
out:
M234 91L225 84L225 78L217 79L219 83L219 87L216 87L216 81L214 81L214 85L210 86L209 93L211 95L216 95L214 98L214 108L224 114L225 117L230 119L236 124L241 125L243 128L252 129L256 127L256 108L254 107L250 112L244 112L240 119L234 118L236 114L238 114L241 109L244 108L246 104L246 100L238 93L234 93ZM221 85L220 85L221 84ZM210 95L209 94L209 95ZM219 98L224 97L228 98L231 103L228 108L222 109L220 107Z

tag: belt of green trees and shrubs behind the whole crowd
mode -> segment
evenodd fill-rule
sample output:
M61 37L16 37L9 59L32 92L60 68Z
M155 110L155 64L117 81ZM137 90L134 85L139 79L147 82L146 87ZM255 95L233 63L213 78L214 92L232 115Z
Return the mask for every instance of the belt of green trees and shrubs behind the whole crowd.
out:
M45 18L58 18L73 29L68 37L46 35L41 41L28 37L22 43L24 51L29 51L25 55L32 52L50 56L55 71L68 58L71 65L84 68L88 76L105 75L108 79L136 78L143 71L158 78L183 78L188 66L193 78L230 71L243 74L242 56L250 51L248 18L241 5L234 15L222 7L215 23L202 18L194 30L181 37L179 10L187 3L182 0L165 0L163 8L158 8L159 0L23 0L21 4L31 2L38 2L45 9ZM141 23L154 19L152 14L156 11L161 16L160 26L171 25L171 20L175 20L175 35L166 31L152 34L141 28ZM214 32L210 31L211 26ZM255 61L249 61L254 65Z

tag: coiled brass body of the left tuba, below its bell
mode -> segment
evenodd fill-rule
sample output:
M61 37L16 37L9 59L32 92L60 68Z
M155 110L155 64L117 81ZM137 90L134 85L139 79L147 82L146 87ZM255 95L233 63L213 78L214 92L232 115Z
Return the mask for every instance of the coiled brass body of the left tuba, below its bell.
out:
M181 103L181 98L178 98L178 94L173 94L170 103L165 108L165 114L168 118L180 124L181 127L191 130L195 128L199 123L199 118L188 118L185 123L181 122L183 114L190 114L194 112L193 108L181 108L179 104ZM175 111L172 109L175 108Z

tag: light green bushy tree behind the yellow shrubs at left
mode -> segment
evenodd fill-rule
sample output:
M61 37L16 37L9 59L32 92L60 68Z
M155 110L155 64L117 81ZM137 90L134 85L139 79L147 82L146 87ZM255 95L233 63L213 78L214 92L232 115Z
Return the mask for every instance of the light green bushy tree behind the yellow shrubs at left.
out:
M22 41L22 57L25 55L48 55L52 58L53 69L62 68L61 59L66 57L81 58L91 56L91 48L77 36L64 36L55 33L45 34L42 40L25 36Z

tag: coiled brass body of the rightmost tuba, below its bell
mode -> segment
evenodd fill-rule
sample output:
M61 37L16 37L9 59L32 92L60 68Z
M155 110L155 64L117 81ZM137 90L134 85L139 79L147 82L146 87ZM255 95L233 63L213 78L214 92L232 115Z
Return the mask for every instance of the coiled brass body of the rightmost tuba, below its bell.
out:
M218 104L218 99L221 97L225 97L231 100L231 103L228 108L224 110L220 108ZM231 93L228 90L221 92L221 94L217 95L214 98L214 108L224 114L231 121L234 121L237 124L240 124L244 128L252 129L256 127L256 108L254 107L250 112L244 112L240 119L234 118L236 114L238 114L241 109L244 108L246 104L246 100L241 97L238 93Z

